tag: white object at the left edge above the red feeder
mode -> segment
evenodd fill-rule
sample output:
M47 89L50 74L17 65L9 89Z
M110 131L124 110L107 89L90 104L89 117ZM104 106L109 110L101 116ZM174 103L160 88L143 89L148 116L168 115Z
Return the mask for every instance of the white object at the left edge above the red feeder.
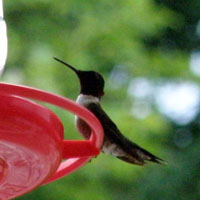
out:
M0 0L0 76L3 72L7 57L7 32L3 19L3 2Z

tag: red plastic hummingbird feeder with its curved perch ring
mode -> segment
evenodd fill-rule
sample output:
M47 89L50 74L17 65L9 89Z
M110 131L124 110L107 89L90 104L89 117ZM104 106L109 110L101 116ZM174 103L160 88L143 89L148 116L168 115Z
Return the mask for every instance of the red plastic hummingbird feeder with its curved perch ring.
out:
M81 117L91 127L90 139L64 140L60 119L32 100ZM74 172L99 154L102 142L102 126L86 108L42 90L0 83L0 199L16 198Z

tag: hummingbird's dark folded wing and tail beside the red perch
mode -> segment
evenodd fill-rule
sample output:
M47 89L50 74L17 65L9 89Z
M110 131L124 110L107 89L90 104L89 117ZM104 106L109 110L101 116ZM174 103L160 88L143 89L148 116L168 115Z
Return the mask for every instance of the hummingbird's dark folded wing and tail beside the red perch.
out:
M110 148L110 154L132 164L144 165L145 161L162 163L162 159L154 156L122 135L100 104L91 103L87 108L99 119L104 129L103 149L107 146L108 149Z

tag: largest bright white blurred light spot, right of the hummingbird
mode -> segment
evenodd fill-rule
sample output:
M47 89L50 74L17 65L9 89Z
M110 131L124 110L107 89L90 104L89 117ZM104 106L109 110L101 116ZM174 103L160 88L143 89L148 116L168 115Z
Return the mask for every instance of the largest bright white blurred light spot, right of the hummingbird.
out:
M199 112L200 88L195 83L168 82L158 87L155 94L160 112L177 124L188 124Z

